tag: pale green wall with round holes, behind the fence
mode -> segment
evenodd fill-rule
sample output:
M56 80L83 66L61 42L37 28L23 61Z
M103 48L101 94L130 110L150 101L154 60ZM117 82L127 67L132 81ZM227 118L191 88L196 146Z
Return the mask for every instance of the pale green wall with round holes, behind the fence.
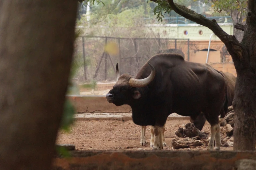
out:
M232 23L220 23L220 27L229 35L233 35L233 24ZM199 25L199 24L149 24L155 34L160 35L160 38L189 38L190 40L209 40L210 35L213 33L209 28ZM199 31L202 31L203 34L200 35ZM166 34L165 34L166 31ZM187 31L188 34L184 35L184 31ZM212 40L220 41L220 39L213 35Z

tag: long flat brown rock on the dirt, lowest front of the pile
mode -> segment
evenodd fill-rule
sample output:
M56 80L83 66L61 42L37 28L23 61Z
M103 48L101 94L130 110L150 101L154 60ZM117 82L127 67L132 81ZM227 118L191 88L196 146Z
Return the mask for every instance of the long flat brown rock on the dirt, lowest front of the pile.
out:
M173 149L180 149L180 148L189 148L190 146L200 146L203 145L203 142L200 140L193 140L189 137L184 139L175 138L171 141Z

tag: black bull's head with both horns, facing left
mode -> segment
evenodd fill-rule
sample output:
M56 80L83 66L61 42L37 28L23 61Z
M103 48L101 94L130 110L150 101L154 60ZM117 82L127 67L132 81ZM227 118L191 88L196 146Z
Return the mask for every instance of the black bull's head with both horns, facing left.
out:
M141 97L139 88L148 85L155 77L154 67L151 64L149 64L149 66L151 67L151 74L149 77L144 79L135 79L128 74L122 74L120 76L117 64L117 82L113 86L113 89L106 94L107 101L115 104L116 106L121 106L124 104L129 104L133 100L139 99Z

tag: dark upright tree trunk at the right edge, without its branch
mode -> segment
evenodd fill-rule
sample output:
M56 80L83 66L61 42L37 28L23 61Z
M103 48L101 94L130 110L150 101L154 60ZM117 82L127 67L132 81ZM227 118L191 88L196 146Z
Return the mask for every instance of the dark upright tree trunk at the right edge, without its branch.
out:
M233 108L235 112L234 150L255 150L256 141L256 2L248 1L247 24L241 45L245 47L237 72ZM238 51L239 53L239 51ZM233 58L233 56L232 56Z

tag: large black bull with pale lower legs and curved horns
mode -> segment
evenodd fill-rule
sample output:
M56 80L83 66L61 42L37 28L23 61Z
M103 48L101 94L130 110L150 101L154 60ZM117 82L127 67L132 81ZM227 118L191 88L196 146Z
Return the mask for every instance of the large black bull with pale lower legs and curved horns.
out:
M211 66L184 61L177 54L157 54L136 78L121 75L106 98L116 106L131 106L134 123L154 126L154 135L160 133L171 113L190 116L192 121L203 113L204 121L211 125L208 149L213 149L215 135L219 149L218 115L225 115L226 91L226 79ZM158 142L153 149L161 147Z

